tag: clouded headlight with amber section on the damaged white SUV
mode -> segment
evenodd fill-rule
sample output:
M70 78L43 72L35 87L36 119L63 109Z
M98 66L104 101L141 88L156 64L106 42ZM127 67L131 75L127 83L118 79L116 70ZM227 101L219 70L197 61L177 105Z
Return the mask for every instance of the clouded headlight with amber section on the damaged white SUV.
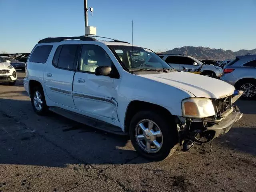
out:
M188 98L182 101L184 117L204 118L215 115L212 101L208 98Z

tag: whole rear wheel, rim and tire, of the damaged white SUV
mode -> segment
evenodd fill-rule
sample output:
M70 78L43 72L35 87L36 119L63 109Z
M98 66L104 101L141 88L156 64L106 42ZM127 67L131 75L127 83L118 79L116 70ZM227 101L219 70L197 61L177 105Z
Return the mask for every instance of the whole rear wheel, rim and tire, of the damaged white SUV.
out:
M41 87L34 87L31 93L31 104L34 112L38 115L46 115L48 106L44 98L44 91Z

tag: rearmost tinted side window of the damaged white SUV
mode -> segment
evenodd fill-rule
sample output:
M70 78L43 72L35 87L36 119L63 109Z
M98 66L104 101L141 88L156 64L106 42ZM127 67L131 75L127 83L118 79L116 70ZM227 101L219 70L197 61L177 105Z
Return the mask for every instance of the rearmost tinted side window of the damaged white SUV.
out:
M34 63L45 63L52 50L52 45L37 46L32 52L29 61Z

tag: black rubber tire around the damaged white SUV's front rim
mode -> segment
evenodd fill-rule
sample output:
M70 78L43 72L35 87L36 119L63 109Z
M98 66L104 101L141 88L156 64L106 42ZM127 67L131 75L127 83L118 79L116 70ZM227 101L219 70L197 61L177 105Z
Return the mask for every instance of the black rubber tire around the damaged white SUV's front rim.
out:
M149 153L142 149L136 139L136 127L141 120L150 120L156 123L162 132L162 147L158 152ZM174 120L168 119L166 116L152 111L140 111L135 114L131 120L129 128L130 138L136 151L143 157L160 161L171 156L178 147L178 131Z

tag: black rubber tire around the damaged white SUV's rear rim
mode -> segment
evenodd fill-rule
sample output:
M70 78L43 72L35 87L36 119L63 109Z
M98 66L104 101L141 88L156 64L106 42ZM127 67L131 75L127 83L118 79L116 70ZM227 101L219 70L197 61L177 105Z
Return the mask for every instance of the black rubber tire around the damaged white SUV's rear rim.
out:
M34 103L34 97L36 96L36 92L38 92L41 95L42 108L40 110L38 109L38 107L35 106L35 103ZM31 97L30 97L31 104L32 104L34 112L36 112L36 114L41 115L41 116L46 115L48 112L48 106L46 105L46 101L44 98L44 91L43 91L42 87L36 86L36 87L32 88L30 95L31 95Z

